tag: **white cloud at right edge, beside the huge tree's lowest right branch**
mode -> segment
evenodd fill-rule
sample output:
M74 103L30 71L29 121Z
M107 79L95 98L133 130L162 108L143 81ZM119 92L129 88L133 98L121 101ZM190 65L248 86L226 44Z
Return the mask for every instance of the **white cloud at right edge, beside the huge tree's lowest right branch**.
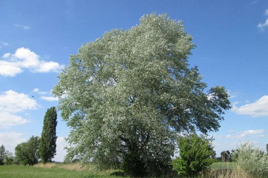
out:
M250 115L252 117L268 116L268 96L262 96L259 100L237 107L237 102L233 103L233 112L237 114Z

